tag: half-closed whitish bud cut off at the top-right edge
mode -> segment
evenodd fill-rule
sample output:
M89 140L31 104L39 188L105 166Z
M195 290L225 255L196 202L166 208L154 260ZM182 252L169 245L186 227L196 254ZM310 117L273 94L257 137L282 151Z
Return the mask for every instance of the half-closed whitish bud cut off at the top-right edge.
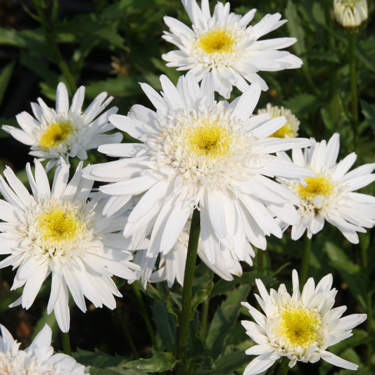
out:
M357 29L367 21L367 0L335 0L333 14L345 29Z

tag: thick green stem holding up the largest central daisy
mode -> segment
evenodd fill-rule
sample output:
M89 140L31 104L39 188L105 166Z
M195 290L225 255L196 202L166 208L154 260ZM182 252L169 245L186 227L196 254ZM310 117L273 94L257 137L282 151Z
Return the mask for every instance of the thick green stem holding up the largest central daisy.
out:
M177 369L178 375L189 374L186 358L186 343L189 332L189 322L191 321L193 315L193 312L191 311L191 298L193 291L194 270L196 267L196 254L198 251L199 234L201 231L200 222L200 212L198 208L196 208L191 219L189 244L184 273L184 286L182 288L182 311L179 317L179 332L177 341L177 360L180 361L180 365Z

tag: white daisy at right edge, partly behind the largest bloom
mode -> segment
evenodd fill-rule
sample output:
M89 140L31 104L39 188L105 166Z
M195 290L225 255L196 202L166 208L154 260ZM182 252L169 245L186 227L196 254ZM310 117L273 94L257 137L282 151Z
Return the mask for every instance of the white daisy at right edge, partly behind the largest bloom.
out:
M312 139L312 146L305 150L293 150L293 161L301 167L312 170L317 178L305 178L306 186L284 179L279 181L300 197L298 214L300 220L293 225L291 236L297 240L307 229L311 239L324 227L324 221L340 229L351 243L358 243L357 231L374 227L375 197L362 193L353 193L375 180L371 172L375 163L357 167L351 172L357 155L351 153L336 163L340 148L339 134L333 134L328 143ZM285 160L290 160L286 153L279 153Z

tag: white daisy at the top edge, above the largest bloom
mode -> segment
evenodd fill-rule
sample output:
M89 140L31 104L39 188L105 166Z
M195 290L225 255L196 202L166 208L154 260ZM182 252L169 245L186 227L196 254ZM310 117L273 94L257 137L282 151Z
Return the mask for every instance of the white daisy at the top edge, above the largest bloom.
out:
M192 29L172 17L165 17L170 32L163 38L178 47L165 53L162 58L167 66L177 70L190 70L198 82L212 71L215 90L229 98L233 86L245 91L248 82L259 82L262 90L267 84L257 74L259 70L277 71L300 68L303 61L287 51L279 51L294 44L295 38L258 40L272 32L287 20L280 20L280 13L267 14L259 23L248 26L256 9L246 15L229 13L230 4L218 1L213 15L208 0L202 0L202 8L196 0L182 0L192 23ZM246 82L248 81L248 82Z

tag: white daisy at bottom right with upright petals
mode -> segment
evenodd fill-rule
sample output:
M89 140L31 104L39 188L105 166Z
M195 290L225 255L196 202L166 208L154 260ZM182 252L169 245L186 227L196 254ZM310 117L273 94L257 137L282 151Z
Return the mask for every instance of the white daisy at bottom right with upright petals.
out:
M326 348L352 336L352 328L364 322L367 315L341 317L346 306L332 308L337 291L331 289L331 274L323 277L316 287L314 279L308 279L302 293L295 270L292 280L292 295L284 284L268 293L262 281L256 280L260 296L255 297L264 314L247 302L241 303L255 320L241 323L258 344L246 350L246 354L258 357L248 364L243 375L259 374L284 356L291 360L289 367L297 361L314 363L322 358L344 369L357 369L357 364L343 360Z

